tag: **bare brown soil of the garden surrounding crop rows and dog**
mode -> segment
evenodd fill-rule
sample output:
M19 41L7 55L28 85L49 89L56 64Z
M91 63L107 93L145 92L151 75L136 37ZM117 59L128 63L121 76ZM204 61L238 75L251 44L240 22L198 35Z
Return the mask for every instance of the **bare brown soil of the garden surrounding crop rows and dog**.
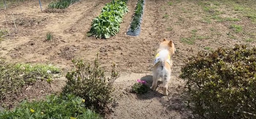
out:
M256 43L256 1L249 0L146 0L138 37L126 35L137 1L128 0L129 12L116 36L110 39L87 37L91 21L109 1L81 0L65 10L54 11L46 9L49 0L42 0L43 12L38 1L30 1L0 12L0 29L7 30L7 25L10 29L10 34L0 43L0 54L8 62L50 62L67 72L72 69L72 59L91 62L99 52L101 66L106 72L111 70L112 63L116 63L121 72L115 83L120 89L117 95L121 96L106 118L191 119L191 112L183 104L185 84L178 78L184 60L198 51ZM52 41L46 40L49 31L54 35ZM163 38L172 39L177 49L172 57L174 66L169 96L162 96L160 82L157 91L132 94L129 89L137 79L145 79L151 85L153 58ZM60 91L64 81L64 77L55 80L54 90ZM29 94L14 98L13 103L26 98L42 98L50 93L49 87L42 82L29 89L32 90L26 92Z

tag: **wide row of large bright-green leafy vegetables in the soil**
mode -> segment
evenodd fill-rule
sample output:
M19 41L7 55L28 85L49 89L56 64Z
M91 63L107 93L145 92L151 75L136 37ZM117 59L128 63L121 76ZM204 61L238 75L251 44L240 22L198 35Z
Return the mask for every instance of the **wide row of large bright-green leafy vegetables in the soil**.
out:
M126 0L112 0L102 8L101 14L93 19L89 35L105 39L115 36L127 12Z

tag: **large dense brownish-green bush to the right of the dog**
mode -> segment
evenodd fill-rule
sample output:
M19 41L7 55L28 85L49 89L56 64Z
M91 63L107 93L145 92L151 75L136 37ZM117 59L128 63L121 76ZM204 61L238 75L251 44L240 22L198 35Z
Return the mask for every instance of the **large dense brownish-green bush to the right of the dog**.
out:
M195 114L207 119L256 118L256 47L199 52L186 60L181 72Z

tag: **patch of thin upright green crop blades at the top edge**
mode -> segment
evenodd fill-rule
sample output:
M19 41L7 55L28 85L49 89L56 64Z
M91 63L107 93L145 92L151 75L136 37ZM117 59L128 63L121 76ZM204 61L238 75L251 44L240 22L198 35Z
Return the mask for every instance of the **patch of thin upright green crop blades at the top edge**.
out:
M49 3L49 9L65 9L79 0L57 0Z

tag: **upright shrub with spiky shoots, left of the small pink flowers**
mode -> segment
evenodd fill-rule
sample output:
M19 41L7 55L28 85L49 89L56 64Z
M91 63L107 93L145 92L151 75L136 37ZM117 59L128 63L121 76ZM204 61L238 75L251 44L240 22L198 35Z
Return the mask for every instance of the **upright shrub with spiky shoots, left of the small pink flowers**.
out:
M93 65L86 64L82 60L75 61L76 70L66 75L67 86L64 93L72 93L86 100L85 106L102 112L107 104L113 101L113 83L118 78L115 65L111 77L106 78L102 68L99 67L98 55Z

